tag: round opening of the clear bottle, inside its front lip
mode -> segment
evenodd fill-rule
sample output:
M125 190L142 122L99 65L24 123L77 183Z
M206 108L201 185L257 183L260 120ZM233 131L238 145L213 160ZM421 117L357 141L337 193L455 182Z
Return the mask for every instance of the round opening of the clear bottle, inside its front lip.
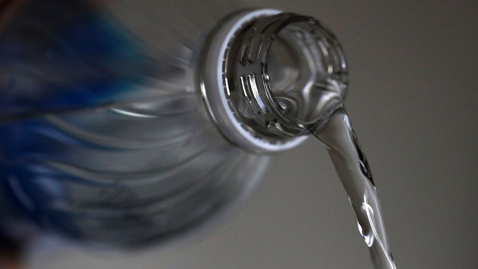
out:
M307 125L321 120L330 99L343 102L347 78L333 35L312 18L297 19L302 20L278 29L265 73L280 112L296 125Z

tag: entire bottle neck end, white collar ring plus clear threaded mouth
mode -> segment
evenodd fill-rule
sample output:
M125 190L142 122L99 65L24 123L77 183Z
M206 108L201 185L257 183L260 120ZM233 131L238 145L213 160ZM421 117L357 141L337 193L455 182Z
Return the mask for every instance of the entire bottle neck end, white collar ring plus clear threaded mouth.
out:
M302 143L347 91L345 56L333 33L312 17L278 10L245 12L223 24L209 40L202 71L217 126L256 152Z

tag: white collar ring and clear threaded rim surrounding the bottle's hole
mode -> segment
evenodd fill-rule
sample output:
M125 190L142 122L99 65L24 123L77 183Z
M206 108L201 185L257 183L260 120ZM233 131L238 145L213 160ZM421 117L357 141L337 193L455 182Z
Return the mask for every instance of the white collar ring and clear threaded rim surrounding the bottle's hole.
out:
M327 80L331 80L325 84L334 84L332 90L326 90L330 91L323 98L327 101L311 108L324 110L313 119L288 113L269 83L271 46L290 26L299 26L300 32L312 35L310 44L304 46L311 51L323 50L325 59L317 58L312 65L325 70ZM216 126L231 143L259 153L287 150L303 143L309 125L321 124L327 111L336 109L321 106L341 105L347 91L346 60L333 33L315 18L275 9L249 10L227 18L209 36L200 62L201 92ZM337 102L330 102L330 98Z

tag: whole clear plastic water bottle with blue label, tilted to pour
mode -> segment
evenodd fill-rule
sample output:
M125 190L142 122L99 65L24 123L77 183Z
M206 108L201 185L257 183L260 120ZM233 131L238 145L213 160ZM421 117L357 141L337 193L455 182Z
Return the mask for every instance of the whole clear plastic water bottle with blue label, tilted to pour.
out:
M303 142L291 122L326 117L346 75L327 28L278 10L7 2L0 226L119 246L182 234ZM314 87L325 90L307 95Z

